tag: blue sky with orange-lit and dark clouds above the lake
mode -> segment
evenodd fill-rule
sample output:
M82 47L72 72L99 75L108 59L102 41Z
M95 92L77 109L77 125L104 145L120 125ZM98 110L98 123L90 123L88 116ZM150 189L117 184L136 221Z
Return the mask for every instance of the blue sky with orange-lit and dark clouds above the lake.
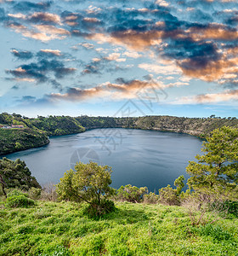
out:
M238 117L237 0L0 0L0 112Z

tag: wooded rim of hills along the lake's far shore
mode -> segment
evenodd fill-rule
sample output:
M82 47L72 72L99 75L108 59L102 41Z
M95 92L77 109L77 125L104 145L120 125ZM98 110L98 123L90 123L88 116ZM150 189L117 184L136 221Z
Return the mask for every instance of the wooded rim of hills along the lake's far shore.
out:
M186 118L174 116L144 117L89 117L37 116L36 119L20 114L1 113L0 127L4 125L23 125L21 129L0 129L0 154L8 154L28 148L48 144L48 136L59 136L83 132L94 128L130 128L156 131L183 132L205 138L216 128L238 127L236 118Z

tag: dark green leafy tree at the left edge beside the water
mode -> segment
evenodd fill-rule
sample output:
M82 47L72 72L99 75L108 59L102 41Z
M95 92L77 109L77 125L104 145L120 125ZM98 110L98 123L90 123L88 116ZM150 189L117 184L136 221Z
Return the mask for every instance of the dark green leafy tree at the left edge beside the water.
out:
M3 157L0 160L0 180L4 195L6 195L4 191L5 187L8 189L17 188L22 190L29 190L31 187L41 189L36 177L31 176L26 163L20 159L13 161Z

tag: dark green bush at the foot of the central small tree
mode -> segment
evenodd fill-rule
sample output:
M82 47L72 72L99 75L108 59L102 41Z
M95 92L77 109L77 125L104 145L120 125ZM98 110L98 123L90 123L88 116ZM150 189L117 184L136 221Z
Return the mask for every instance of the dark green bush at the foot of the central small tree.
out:
M97 201L93 201L84 211L89 218L99 218L106 213L114 212L116 210L115 204L113 201L103 199L98 204Z

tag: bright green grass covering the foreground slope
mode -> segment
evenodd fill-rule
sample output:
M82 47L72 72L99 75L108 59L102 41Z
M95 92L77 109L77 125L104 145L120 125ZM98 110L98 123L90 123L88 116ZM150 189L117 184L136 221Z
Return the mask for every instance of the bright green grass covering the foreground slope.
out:
M116 203L92 220L70 202L0 205L0 255L238 255L238 220L194 228L183 207Z

